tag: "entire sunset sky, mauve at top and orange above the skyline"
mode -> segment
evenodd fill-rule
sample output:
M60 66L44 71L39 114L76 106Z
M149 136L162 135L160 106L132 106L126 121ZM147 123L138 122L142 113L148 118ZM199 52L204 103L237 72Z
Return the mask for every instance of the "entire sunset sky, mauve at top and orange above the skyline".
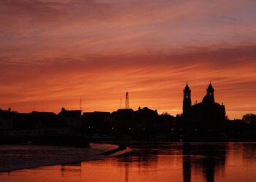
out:
M181 113L211 83L230 119L256 113L256 1L1 0L0 108Z

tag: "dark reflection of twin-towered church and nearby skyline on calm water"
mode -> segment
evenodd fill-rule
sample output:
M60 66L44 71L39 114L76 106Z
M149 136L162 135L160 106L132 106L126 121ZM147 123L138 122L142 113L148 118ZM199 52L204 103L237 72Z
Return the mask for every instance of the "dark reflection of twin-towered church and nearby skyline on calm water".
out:
M141 146L140 146L141 147ZM158 148L157 150L155 150ZM141 152L141 150L146 152ZM132 156L118 157L118 165L123 164L126 167L126 181L129 179L129 163L138 163L138 170L140 168L152 167L157 172L157 165L162 154L175 156L182 156L182 173L183 181L192 181L192 170L197 175L201 173L206 182L214 182L215 173L224 173L225 160L227 155L227 143L176 143L168 146L166 143L157 146L143 146L139 151L132 153ZM256 149L255 149L256 151Z

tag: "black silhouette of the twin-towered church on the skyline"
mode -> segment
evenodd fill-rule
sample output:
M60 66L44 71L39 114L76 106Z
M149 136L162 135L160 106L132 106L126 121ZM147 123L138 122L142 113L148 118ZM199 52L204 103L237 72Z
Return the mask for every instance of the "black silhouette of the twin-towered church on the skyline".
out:
M225 106L215 102L214 87L210 84L206 90L206 96L201 103L191 104L191 90L187 84L184 88L183 118L187 128L203 128L208 130L220 130L225 122Z

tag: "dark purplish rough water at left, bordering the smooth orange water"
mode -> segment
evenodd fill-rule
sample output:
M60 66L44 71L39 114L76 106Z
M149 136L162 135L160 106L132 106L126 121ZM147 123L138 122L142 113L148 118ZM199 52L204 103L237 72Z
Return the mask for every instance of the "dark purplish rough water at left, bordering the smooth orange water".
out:
M48 165L79 163L106 157L103 153L118 149L116 145L90 143L90 148L62 146L0 146L0 172L23 170ZM129 149L116 152L124 154ZM113 156L115 154L111 154Z

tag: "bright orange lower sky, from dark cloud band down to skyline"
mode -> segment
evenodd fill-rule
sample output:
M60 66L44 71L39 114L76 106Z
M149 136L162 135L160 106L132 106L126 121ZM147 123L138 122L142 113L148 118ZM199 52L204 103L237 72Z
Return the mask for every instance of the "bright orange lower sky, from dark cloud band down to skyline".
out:
M256 111L255 47L208 50L178 55L116 55L40 63L1 63L1 107L18 111L58 112L61 106L85 111L115 111L124 92L130 105L149 106L170 114L181 112L182 90L189 82L192 100L200 101L209 81L230 117Z

